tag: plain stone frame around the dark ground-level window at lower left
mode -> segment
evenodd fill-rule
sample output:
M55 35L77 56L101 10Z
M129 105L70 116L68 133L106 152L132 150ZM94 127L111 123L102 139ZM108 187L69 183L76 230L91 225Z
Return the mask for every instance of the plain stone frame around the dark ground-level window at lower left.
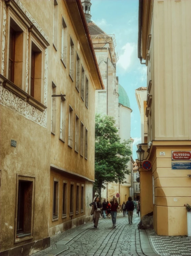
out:
M27 180L33 182L32 186L32 212L31 212L31 235L17 238L17 209L18 209L18 190L19 190L19 180ZM24 240L33 238L33 225L34 225L34 191L35 191L35 176L24 176L17 174L17 194L16 194L16 211L15 211L15 225L14 225L14 243L18 243Z

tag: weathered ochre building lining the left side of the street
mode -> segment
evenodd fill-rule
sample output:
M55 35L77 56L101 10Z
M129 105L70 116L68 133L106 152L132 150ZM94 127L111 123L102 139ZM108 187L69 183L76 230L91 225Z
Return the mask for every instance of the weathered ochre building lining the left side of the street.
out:
M103 82L81 3L32 2L0 0L0 255L90 220Z

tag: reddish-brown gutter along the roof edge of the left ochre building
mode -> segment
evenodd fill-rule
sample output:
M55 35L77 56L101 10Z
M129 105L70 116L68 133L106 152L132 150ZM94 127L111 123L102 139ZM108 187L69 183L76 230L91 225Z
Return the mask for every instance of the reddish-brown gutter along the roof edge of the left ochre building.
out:
M77 6L78 6L78 10L80 12L83 27L84 27L85 32L86 32L86 36L87 36L87 39L88 39L88 43L89 43L89 46L90 46L90 50L91 50L91 53L92 53L94 64L96 65L96 70L98 72L98 77L99 77L99 80L100 80L100 83L101 83L101 88L103 90L103 89L105 89L105 87L104 87L104 84L103 84L103 81L102 81L102 77L101 77L101 73L100 73L100 70L99 70L99 66L98 66L98 62L97 62L97 59L96 59L96 54L95 54L95 51L94 51L94 48L93 48L93 44L92 44L92 41L91 41L91 36L90 36L89 28L88 28L88 25L87 25L86 17L85 17L84 12L83 12L81 0L76 0L76 3L77 3Z

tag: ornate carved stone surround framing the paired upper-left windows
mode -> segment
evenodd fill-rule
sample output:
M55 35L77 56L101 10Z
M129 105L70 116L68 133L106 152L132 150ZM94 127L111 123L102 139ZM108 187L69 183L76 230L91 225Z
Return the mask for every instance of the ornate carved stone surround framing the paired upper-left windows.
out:
M27 117L28 119L46 127L47 125L47 74L48 74L48 36L43 32L42 28L38 25L36 20L29 14L29 12L24 8L22 3L19 0L8 0L6 2L3 1L3 27L2 27L2 46L1 46L1 84L0 84L0 104L7 105L19 112L21 115ZM9 38L9 24L10 17L22 27L22 30L26 28L24 31L26 32L26 40L23 42L23 62L26 63L23 69L23 82L22 88L14 85L14 83L10 82L7 79L8 76L8 68L7 68L7 58L8 58L8 49L5 47L5 42L8 42ZM8 25L7 25L8 24ZM22 26L21 26L22 25ZM6 30L7 29L7 30ZM33 36L37 39L37 41L44 48L44 58L43 58L43 86L42 86L42 103L31 97L29 92L28 80L29 80L29 72L28 72L28 63L29 63L29 35ZM28 50L27 50L28 49ZM26 61L25 61L26 60ZM6 64L6 65L5 65ZM9 94L9 97L5 98L4 95ZM17 106L14 104L10 104L10 100L8 98L14 98L17 102ZM22 101L22 104L18 105ZM22 107L21 107L22 106ZM28 111L26 111L26 109ZM31 115L31 111L29 109L33 109L33 115ZM40 111L39 111L40 110ZM45 113L42 113L45 112ZM40 115L40 118L39 118Z

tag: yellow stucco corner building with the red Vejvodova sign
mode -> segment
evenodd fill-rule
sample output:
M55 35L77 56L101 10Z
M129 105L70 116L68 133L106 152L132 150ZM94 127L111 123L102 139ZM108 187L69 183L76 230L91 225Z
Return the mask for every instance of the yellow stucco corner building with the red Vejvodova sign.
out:
M190 9L187 0L139 0L138 58L147 66L148 123L141 145L152 163L152 170L139 168L141 217L153 211L155 232L166 236L187 235L183 205L191 203L191 161L173 159L173 151L191 151Z

